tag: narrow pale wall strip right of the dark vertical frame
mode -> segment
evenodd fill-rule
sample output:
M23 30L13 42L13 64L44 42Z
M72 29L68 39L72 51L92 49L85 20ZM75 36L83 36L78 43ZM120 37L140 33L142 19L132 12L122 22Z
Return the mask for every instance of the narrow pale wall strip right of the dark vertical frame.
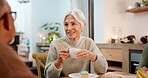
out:
M104 41L103 1L94 0L94 41L96 43L102 43Z

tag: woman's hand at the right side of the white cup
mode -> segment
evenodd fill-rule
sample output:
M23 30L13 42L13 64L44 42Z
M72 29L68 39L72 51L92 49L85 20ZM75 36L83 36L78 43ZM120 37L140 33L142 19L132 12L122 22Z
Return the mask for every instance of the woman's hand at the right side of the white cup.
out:
M75 58L96 61L97 55L89 50L82 49L76 52Z

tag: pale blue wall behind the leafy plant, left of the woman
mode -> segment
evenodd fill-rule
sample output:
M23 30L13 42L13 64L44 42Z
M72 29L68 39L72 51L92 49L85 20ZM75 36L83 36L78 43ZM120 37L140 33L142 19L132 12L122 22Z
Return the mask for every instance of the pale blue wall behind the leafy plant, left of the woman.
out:
M36 43L40 42L39 34L47 36L48 32L43 32L39 28L45 23L61 22L61 37L65 35L63 30L63 18L67 11L70 10L70 0L34 0L32 1L32 49L31 52L38 52Z

